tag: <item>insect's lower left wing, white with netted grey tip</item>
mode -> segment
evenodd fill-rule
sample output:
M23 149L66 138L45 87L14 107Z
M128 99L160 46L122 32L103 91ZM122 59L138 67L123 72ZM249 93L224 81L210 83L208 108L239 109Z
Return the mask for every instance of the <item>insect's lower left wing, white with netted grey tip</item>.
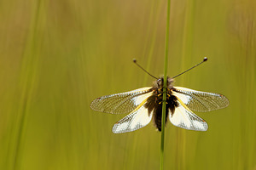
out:
M113 133L128 133L135 131L141 127L145 127L152 119L152 113L148 114L145 106L139 106L135 111L119 120L113 125Z

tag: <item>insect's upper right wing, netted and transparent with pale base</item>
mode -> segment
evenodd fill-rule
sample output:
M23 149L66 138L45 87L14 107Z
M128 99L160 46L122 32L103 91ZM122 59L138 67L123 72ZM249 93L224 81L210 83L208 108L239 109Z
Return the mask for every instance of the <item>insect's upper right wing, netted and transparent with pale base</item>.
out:
M230 102L222 94L213 94L192 90L189 88L175 87L172 94L181 99L192 111L213 111L227 107Z

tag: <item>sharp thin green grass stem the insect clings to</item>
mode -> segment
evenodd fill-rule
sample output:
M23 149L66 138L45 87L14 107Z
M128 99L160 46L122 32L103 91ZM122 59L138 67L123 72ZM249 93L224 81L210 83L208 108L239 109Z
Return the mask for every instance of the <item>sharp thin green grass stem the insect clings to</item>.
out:
M162 124L161 124L161 145L160 145L160 170L164 169L164 150L165 150L165 127L166 127L166 82L167 82L167 63L169 46L169 26L170 26L171 0L167 0L166 14L166 54L165 54L165 73L163 86L163 106L162 106Z

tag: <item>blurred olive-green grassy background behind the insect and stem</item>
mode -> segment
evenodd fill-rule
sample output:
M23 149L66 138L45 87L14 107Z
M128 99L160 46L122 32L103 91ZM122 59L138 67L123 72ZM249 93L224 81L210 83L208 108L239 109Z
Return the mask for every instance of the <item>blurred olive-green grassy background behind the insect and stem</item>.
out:
M194 132L166 125L165 169L256 169L256 2L174 1L168 75L224 94ZM166 1L0 2L0 169L159 169L153 123L113 134L125 115L90 101L150 86L164 72Z

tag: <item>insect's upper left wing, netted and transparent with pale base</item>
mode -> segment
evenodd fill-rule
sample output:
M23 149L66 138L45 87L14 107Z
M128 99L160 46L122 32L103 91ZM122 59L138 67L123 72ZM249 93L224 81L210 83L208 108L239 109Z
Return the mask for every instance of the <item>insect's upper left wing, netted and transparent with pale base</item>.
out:
M111 94L102 96L90 103L90 108L94 111L102 111L111 114L128 113L137 108L144 99L152 95L153 89L138 88L130 92L121 94Z

